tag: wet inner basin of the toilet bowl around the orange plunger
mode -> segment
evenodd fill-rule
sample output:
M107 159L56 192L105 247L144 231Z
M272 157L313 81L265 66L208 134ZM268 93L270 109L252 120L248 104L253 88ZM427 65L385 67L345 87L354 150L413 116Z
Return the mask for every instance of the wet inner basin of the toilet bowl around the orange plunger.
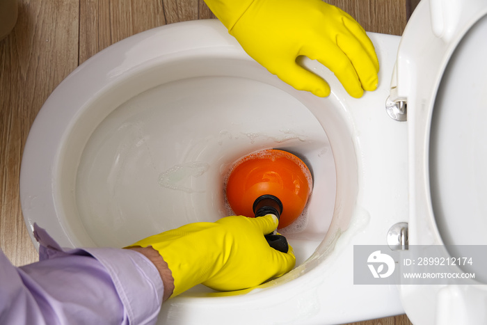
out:
M232 163L264 148L296 152L312 168L310 202L281 231L301 264L333 216L333 154L307 107L257 81L183 79L118 106L84 146L69 208L97 246L126 246L186 223L215 221L229 213L223 180Z

